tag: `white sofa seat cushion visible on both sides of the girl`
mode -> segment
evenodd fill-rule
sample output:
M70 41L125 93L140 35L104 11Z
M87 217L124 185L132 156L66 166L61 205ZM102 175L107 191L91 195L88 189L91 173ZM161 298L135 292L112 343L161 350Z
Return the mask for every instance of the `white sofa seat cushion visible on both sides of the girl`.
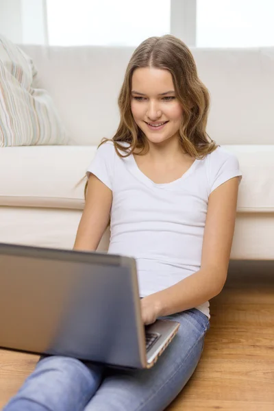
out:
M242 171L238 212L274 212L274 145L224 145ZM3 147L0 206L84 207L84 184L96 146ZM77 185L78 184L78 185Z

